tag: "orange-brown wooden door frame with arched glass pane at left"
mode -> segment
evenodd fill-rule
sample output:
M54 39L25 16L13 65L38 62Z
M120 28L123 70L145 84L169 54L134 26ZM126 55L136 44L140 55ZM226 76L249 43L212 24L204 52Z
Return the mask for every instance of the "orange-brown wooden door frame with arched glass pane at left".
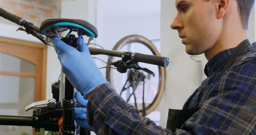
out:
M15 49L14 49L15 48ZM0 37L0 52L35 64L35 73L0 71L0 75L15 75L35 78L34 101L46 99L46 51L47 46L38 42Z

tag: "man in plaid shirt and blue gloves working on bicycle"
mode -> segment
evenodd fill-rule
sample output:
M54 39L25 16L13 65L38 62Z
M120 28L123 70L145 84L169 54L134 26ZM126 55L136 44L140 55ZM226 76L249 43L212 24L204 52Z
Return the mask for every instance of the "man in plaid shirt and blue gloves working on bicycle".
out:
M208 78L183 107L196 111L176 130L157 126L127 104L100 73L82 38L80 52L53 38L62 70L84 95L76 93L78 102L89 100L87 112L76 109L76 121L99 135L256 134L256 45L246 40L253 5L254 0L176 0L171 28L188 54L204 53L208 59Z

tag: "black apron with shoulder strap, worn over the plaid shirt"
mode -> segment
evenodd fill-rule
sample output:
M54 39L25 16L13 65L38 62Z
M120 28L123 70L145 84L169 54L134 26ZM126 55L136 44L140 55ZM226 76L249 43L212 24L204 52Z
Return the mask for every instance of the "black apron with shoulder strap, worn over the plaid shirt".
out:
M246 47L250 46L249 40L244 40L241 42L234 52L230 55L228 58L225 66L222 69L222 72L218 76L218 79L220 79L221 75L230 67L233 63L234 60L242 54L244 49ZM217 79L217 80L218 80ZM169 109L168 112L168 119L167 119L167 125L166 129L170 129L171 131L175 132L175 129L180 129L181 126L194 114L196 113L200 108L194 108L194 109Z

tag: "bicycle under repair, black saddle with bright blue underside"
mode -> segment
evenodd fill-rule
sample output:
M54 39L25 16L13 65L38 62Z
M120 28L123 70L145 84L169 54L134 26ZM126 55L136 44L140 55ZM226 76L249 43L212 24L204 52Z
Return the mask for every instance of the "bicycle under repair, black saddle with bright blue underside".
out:
M96 38L98 36L97 29L92 24L84 20L60 18L47 19L44 20L40 28L38 28L23 18L6 12L2 8L0 8L0 16L23 26L24 29L19 28L19 30L24 30L27 34L32 34L46 45L50 44L48 44L42 35L52 38L52 36L59 36L60 32L67 30L69 30L69 33L66 37L61 38L61 40L74 48L77 48L76 41L78 38L71 34L72 32L77 32L78 36L85 35L89 38ZM119 62L123 64L123 67L142 69L151 74L152 72L150 72L150 70L146 70L138 66L138 62L156 64L164 67L169 64L168 58L160 56L132 52L118 52L98 48L89 48L89 51L92 55L104 54L113 57L120 57L122 60ZM60 82L53 83L52 86L52 91L55 91L53 93L53 97L55 99L38 101L28 105L26 107L26 111L36 108L33 111L32 116L0 115L0 125L30 126L34 127L36 132L39 132L40 128L44 128L45 131L52 131L52 134L60 132L62 135L75 135L76 126L74 122L74 108L76 107L76 99L74 98L74 87L68 79L66 79L63 72L61 73ZM84 135L86 133L87 132L84 131L84 129L80 129L80 135Z

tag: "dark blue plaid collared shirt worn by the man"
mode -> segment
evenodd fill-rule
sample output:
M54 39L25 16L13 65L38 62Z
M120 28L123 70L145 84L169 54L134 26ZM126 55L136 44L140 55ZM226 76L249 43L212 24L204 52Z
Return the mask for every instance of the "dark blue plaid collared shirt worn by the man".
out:
M183 109L201 109L176 131L142 117L109 84L103 84L90 98L87 121L98 135L255 135L256 44L247 47L217 81L233 51L234 48L224 50L208 61L204 69L207 79L183 106Z

